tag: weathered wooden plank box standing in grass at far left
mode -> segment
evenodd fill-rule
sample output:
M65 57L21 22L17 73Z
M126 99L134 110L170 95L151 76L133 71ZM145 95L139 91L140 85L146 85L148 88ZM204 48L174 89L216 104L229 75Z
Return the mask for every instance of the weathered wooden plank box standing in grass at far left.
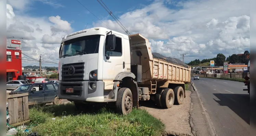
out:
M28 93L7 93L10 125L18 125L29 121Z

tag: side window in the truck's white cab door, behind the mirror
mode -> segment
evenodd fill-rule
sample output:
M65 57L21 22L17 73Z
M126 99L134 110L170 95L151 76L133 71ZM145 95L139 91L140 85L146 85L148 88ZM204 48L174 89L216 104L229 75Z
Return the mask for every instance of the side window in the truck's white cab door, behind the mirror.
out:
M122 38L116 37L116 46L115 50L109 51L107 46L107 39L108 35L106 36L106 43L105 43L105 56L122 56Z

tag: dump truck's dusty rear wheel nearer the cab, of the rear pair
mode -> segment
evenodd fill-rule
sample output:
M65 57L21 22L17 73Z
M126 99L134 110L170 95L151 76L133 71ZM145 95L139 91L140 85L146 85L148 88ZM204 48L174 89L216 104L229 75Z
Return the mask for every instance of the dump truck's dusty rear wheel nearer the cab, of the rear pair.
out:
M170 108L174 104L174 91L170 88L164 89L161 94L163 108Z

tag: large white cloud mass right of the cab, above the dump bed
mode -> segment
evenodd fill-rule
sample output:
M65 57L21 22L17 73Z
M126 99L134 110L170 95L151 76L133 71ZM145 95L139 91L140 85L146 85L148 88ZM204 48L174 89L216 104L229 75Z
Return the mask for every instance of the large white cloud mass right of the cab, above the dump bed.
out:
M168 4L178 6L178 10ZM250 47L249 0L156 0L127 12L118 20L131 33L150 39L152 50L166 56L187 54L185 61L226 56ZM113 30L125 33L114 21L103 20ZM101 22L94 26L105 27Z

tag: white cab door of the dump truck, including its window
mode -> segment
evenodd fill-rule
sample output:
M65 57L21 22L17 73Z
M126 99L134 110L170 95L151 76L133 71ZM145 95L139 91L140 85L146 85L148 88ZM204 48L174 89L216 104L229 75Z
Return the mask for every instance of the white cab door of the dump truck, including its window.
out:
M125 71L125 52L124 37L116 35L115 50L109 51L105 40L104 61L103 61L103 80L113 80L116 75ZM109 56L109 59L106 59Z

